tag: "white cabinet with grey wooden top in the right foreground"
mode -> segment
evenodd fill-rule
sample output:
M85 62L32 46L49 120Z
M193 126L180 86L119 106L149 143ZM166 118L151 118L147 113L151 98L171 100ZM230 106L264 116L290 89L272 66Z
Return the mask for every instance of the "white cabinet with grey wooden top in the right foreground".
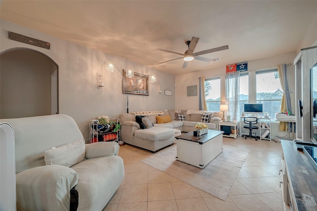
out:
M284 210L317 211L317 171L293 141L281 140Z

